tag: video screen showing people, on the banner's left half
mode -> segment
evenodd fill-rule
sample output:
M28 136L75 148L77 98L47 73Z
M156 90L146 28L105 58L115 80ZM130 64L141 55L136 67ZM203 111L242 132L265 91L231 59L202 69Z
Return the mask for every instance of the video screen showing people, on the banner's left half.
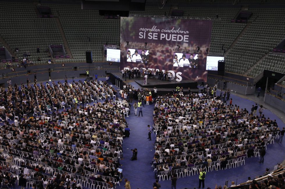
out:
M143 63L149 62L149 50L145 49L127 49L127 62Z

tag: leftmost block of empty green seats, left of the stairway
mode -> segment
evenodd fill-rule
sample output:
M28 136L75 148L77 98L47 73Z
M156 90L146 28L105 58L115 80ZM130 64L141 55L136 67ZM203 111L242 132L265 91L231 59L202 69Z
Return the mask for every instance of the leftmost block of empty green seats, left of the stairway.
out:
M47 63L49 60L45 50L50 44L63 44L60 31L54 19L41 19L37 17L32 3L1 2L0 6L0 33L11 49L16 47L15 57L23 59L24 52L30 52L34 64ZM40 53L37 52L40 48ZM41 62L38 61L40 56ZM18 63L13 63L17 66ZM4 67L1 65L1 67Z

